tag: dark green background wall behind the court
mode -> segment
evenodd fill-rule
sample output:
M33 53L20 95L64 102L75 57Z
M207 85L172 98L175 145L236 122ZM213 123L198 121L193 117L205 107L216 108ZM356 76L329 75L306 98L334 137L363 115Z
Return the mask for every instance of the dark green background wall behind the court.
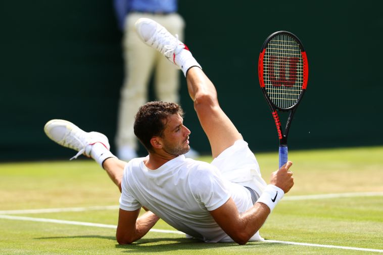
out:
M251 149L277 151L257 60L265 38L278 30L296 34L309 60L290 149L383 144L380 5L180 0L179 12L185 42L217 86L221 107ZM0 28L0 161L73 156L44 135L45 122L53 118L105 133L114 151L123 63L112 2L2 1ZM183 79L182 85L191 146L208 154Z

